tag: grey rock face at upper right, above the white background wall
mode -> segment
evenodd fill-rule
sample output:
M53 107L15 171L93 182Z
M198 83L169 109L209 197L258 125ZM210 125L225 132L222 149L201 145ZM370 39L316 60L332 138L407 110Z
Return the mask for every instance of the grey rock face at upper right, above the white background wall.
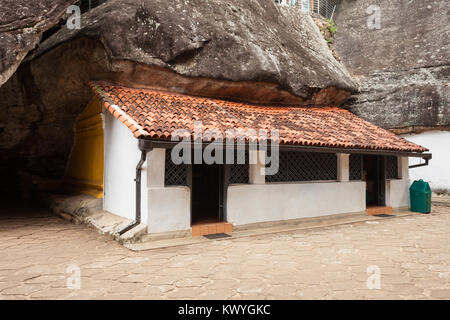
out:
M358 79L350 111L397 133L450 127L448 0L343 0L334 45Z

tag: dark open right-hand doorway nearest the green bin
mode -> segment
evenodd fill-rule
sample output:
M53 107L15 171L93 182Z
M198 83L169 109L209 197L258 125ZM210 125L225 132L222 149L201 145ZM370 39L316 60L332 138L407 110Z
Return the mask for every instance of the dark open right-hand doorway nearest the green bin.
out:
M382 156L363 157L363 177L366 181L367 206L384 206L385 201L385 163Z

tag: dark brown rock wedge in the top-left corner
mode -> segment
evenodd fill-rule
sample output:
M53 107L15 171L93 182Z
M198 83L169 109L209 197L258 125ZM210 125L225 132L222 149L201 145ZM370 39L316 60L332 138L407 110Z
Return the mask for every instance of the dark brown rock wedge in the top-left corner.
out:
M0 86L77 0L0 0Z

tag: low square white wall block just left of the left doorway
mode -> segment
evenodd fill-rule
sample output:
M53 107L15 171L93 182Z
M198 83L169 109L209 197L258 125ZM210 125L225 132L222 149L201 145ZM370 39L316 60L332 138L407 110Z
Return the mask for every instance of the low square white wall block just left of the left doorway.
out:
M188 187L148 189L148 233L187 230L191 227Z

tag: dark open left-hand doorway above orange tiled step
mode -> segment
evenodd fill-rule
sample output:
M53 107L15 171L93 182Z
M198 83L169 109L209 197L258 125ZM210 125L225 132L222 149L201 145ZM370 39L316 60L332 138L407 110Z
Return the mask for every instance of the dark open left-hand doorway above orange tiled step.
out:
M191 223L223 220L223 165L192 165Z

